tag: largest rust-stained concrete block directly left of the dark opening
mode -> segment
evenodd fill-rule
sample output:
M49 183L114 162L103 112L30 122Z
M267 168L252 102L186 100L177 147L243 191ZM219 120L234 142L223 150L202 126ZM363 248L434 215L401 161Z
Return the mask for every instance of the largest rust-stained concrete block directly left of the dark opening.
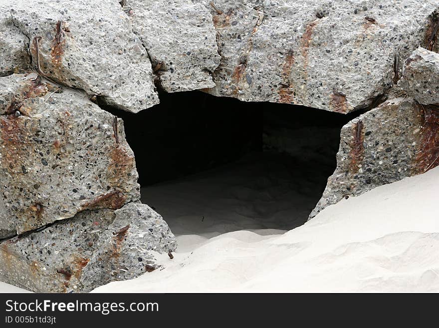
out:
M0 238L140 199L121 119L36 74L1 81Z

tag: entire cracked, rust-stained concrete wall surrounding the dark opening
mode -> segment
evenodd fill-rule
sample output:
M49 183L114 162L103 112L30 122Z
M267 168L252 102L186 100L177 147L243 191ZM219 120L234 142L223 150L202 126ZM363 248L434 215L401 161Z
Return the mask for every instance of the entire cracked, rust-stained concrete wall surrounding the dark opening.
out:
M310 218L439 165L437 0L25 0L0 5L0 280L88 292L176 240L139 203L106 104L167 92L362 110ZM286 107L285 110L288 110Z

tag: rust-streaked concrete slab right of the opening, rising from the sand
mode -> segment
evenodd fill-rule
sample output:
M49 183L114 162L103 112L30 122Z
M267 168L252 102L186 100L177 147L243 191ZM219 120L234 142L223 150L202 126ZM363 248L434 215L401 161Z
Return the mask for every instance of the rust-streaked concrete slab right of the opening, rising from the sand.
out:
M337 168L310 218L343 197L421 174L439 165L439 106L405 96L387 100L341 130Z

